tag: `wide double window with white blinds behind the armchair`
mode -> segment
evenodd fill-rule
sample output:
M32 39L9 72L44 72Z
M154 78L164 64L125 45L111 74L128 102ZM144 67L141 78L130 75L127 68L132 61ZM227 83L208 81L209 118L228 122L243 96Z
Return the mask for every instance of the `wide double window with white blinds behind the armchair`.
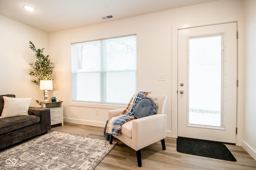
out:
M136 35L71 45L72 100L127 104L136 92Z

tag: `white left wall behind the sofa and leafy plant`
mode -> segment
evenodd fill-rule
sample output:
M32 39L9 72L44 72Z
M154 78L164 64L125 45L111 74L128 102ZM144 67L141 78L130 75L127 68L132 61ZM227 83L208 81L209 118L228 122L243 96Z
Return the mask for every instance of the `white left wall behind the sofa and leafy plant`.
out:
M30 82L29 62L34 62L34 52L29 48L32 41L37 48L48 49L48 33L24 25L0 15L0 94L15 94L18 98L30 98L30 106L38 106L43 92ZM42 97L42 98L40 98Z

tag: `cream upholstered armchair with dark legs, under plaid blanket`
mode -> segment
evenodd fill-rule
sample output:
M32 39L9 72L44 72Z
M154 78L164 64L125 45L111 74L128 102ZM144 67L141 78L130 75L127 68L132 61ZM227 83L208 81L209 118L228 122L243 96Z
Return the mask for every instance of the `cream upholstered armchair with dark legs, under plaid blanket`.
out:
M115 136L117 139L136 150L138 166L142 166L140 149L147 147L153 143L161 141L162 149L165 150L166 138L166 115L164 108L166 96L160 94L149 93L148 98L151 98L156 103L156 114L133 119L124 123L121 129L121 135ZM124 109L115 109L108 112L108 118L120 114ZM112 144L112 135L110 135L110 144Z

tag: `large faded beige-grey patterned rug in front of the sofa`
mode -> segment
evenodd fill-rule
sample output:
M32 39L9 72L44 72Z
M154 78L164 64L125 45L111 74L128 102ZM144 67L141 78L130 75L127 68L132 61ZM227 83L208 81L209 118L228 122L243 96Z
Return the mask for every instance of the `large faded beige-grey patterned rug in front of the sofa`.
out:
M93 170L116 144L53 131L0 151L0 169Z

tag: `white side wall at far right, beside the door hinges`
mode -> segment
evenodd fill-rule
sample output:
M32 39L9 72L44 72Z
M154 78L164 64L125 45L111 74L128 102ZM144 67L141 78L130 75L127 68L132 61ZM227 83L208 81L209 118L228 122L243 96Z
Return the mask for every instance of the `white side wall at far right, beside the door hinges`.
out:
M242 147L256 160L256 1L245 1L245 100Z

